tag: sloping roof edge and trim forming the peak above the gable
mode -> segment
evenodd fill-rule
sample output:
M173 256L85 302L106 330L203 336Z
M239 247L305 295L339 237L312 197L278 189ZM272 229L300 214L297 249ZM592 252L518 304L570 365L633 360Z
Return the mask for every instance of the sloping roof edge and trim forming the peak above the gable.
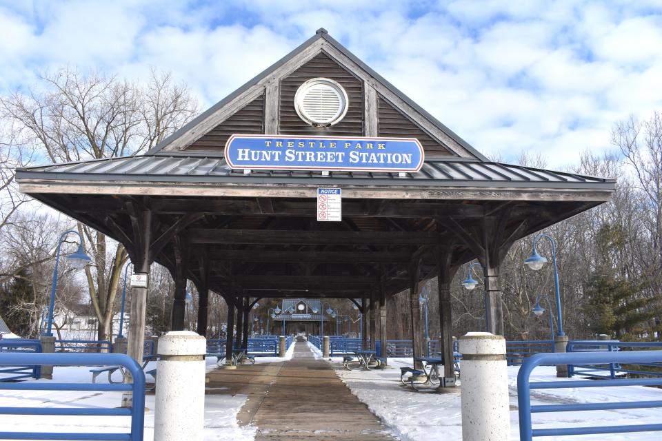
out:
M232 103L234 99L237 99L241 94L244 92L250 90L250 88L254 87L261 81L265 80L272 74L275 70L281 68L281 66L285 65L285 63L288 63L288 61L294 59L294 57L297 57L297 55L301 54L304 52L307 48L309 48L311 45L319 41L320 39L323 39L325 42L329 43L332 45L333 48L341 52L345 57L350 59L352 62L356 63L359 68L364 70L368 75L372 76L372 79L374 81L377 81L380 85L383 86L386 90L390 91L392 94L397 96L399 99L401 99L404 103L412 107L415 112L418 112L423 118L427 119L432 125L437 127L437 129L441 130L445 136L448 136L452 141L456 142L459 144L464 150L469 152L472 156L478 158L480 161L488 161L488 158L483 156L480 152L478 152L474 147L472 147L467 141L464 141L461 139L460 136L458 136L456 133L454 133L452 130L450 130L448 127L443 125L439 120L434 118L430 113L426 112L423 107L419 106L417 103L414 103L408 96L403 94L398 88L396 88L394 85L386 81L380 74L372 70L370 66L366 65L361 61L356 55L352 54L350 50L345 48L341 43L333 39L332 37L329 36L328 32L324 28L320 28L317 30L315 35L308 39L307 41L303 42L301 45L299 45L297 48L292 50L289 54L285 55L282 59L274 63L273 65L270 65L268 68L263 70L260 74L255 76L253 79L248 81L248 83L245 83L244 85L241 86L241 88L235 90L228 96L225 96L224 99L219 101L218 103L212 105L208 110L205 110L205 112L202 112L199 114L196 118L194 118L192 121L190 121L188 124L184 125L181 127L181 129L177 130L177 132L174 132L174 134L168 136L168 138L164 139L159 143L158 145L154 146L151 150L147 152L147 154L161 154L162 150L173 143L174 141L177 141L183 134L189 132L192 130L192 128L196 127L197 125L203 123L206 119L208 119L210 116L218 112L219 110L223 109L226 105ZM202 135L202 134L201 134ZM167 153L167 152L165 152Z

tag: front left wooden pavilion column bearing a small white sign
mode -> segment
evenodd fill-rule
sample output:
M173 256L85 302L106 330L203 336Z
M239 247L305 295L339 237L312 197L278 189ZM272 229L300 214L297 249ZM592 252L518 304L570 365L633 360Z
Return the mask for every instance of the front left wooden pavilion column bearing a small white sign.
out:
M152 256L150 243L152 241L152 212L144 209L135 214L134 243L138 244L136 256L132 258L134 274L150 274ZM148 288L134 287L131 289L131 311L129 318L128 355L142 364L145 342L145 315L147 310Z

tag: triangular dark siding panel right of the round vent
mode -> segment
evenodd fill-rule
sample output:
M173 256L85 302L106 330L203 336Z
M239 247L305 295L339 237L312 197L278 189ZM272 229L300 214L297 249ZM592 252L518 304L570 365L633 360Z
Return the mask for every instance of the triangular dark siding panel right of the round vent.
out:
M442 143L432 138L428 132L410 120L405 114L397 110L383 96L377 99L377 116L379 119L379 136L402 136L405 138L417 138L423 145L425 155L429 156L453 156Z

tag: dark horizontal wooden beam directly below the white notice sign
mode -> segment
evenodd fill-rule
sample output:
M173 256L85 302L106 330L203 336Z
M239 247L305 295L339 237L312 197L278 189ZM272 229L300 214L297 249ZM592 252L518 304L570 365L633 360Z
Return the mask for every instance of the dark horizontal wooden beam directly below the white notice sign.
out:
M191 243L279 245L435 245L433 232L341 232L308 230L210 229L188 231Z

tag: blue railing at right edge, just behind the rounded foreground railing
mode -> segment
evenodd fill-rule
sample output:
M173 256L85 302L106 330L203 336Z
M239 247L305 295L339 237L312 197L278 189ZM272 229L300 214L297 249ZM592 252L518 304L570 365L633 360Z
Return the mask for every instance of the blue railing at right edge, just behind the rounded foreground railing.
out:
M619 352L637 351L643 349L662 349L662 342L621 342L619 340L570 340L565 350L568 352ZM643 370L641 368L652 368ZM637 369L638 368L638 369ZM607 374L606 372L609 371ZM643 362L623 367L619 363L610 362L605 365L568 365L568 376L590 376L594 378L616 378L630 374L638 376L662 376L662 364Z

